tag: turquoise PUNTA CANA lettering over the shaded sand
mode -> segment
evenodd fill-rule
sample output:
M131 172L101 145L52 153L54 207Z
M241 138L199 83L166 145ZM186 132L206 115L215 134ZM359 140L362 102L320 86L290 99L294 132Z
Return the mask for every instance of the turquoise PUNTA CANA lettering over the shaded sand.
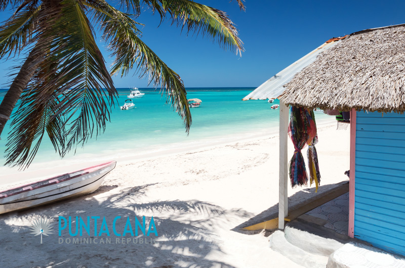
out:
M124 229L117 229L116 224L122 225L125 221ZM101 219L100 216L88 216L85 220L80 216L75 216L75 221L72 221L72 217L69 216L66 219L64 216L58 217L58 229L59 229L59 236L62 236L62 231L67 229L66 231L69 232L70 236L83 236L83 234L88 234L90 236L90 227L94 229L94 236L101 236L103 234L110 236L138 236L138 230L142 232L145 236L149 236L150 234L154 234L156 237L157 230L155 226L155 222L153 217L150 218L148 224L148 231L146 232L146 222L145 216L142 217L142 224L138 220L136 216L121 218L121 216L116 216L112 221L108 222L103 217ZM134 228L133 228L134 227ZM73 230L74 229L74 230ZM64 231L64 232L66 232ZM112 232L110 232L112 231ZM135 231L135 232L134 232Z

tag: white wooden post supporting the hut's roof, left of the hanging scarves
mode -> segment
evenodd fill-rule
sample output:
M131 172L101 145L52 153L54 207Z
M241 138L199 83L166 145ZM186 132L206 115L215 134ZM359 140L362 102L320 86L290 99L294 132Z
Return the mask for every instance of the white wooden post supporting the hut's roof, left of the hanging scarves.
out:
M284 230L284 218L288 216L288 123L289 108L280 101L279 173L278 173L278 229Z

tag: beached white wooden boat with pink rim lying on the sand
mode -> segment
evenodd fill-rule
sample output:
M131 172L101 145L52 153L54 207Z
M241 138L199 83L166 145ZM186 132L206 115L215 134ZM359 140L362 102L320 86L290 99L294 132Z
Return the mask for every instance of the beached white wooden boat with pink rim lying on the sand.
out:
M0 192L0 214L93 193L115 161Z

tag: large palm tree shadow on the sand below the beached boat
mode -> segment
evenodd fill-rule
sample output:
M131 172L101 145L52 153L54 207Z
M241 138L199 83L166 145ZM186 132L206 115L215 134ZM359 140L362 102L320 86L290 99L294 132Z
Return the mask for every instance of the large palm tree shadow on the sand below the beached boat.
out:
M244 210L225 210L219 206L197 200L171 200L143 203L142 197L152 185L115 189L102 186L95 193L30 210L0 215L0 266L2 267L233 267L225 262L212 260L210 254L223 253L213 225L226 222L229 217L252 216ZM118 191L119 190L119 191ZM109 192L110 191L110 192ZM108 192L108 193L107 193ZM138 237L126 234L117 237L112 231L123 234L127 217L135 233L135 216L142 222L145 215L146 232L153 216L158 236L145 236L139 230ZM187 216L185 218L185 215ZM99 216L97 227L90 221L90 236L83 230L83 237L98 238L96 243L67 243L68 225L58 235L58 216L72 220L81 216L87 223L88 216ZM53 234L31 234L34 219L44 217L53 221ZM100 231L105 217L110 236ZM76 222L71 228L75 232ZM63 222L62 222L63 226ZM128 228L126 229L128 230ZM79 238L76 236L75 238ZM104 244L101 243L101 238ZM111 242L108 243L107 239ZM128 239L127 239L128 238ZM136 239L137 238L137 239ZM155 243L150 243L155 239ZM119 242L116 243L118 240ZM136 243L134 242L136 239ZM141 243L141 239L143 243ZM62 240L62 243L61 243ZM93 240L94 241L94 240ZM146 242L146 243L145 243ZM153 241L152 241L153 242Z

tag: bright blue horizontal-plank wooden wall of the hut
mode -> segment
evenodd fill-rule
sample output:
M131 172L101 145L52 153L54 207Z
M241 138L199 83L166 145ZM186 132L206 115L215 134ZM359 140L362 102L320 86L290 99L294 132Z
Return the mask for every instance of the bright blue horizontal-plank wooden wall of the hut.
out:
M405 114L356 117L354 237L405 255Z

